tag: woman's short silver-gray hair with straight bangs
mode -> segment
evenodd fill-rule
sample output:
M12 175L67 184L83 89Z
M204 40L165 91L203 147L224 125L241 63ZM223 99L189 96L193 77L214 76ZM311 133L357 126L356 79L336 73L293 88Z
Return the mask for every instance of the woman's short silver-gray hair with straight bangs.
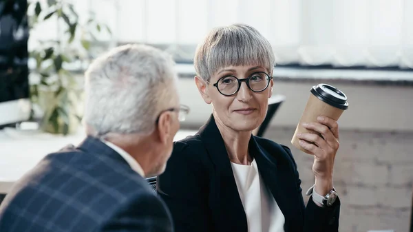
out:
M255 28L233 24L213 29L195 52L195 71L209 81L223 67L261 65L272 75L275 57L271 44Z

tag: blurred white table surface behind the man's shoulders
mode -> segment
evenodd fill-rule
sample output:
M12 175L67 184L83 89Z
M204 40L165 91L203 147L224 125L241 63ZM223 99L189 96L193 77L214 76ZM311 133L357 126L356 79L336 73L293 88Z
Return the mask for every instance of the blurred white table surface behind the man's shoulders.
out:
M178 131L174 140L195 133L193 130L182 129ZM6 127L0 130L0 195L8 193L12 184L44 156L69 144L78 145L84 138L83 129L70 136L48 134L36 129L19 130Z

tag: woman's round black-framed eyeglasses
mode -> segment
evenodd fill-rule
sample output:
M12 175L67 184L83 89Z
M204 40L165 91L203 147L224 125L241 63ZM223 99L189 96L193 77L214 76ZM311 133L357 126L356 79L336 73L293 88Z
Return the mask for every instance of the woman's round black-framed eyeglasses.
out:
M217 87L218 92L224 96L232 96L236 94L241 87L242 82L246 83L248 89L253 92L263 92L273 76L266 74L265 72L254 72L251 76L244 79L238 79L236 76L224 76L220 78L213 86ZM209 81L207 81L209 83Z

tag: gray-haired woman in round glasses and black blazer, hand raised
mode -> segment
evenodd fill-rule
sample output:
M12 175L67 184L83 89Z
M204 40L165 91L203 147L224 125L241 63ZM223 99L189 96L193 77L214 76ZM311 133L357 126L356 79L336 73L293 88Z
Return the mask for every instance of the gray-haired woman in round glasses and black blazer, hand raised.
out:
M337 122L320 118L305 127L321 136L299 136L315 156L306 207L290 149L251 133L273 94L270 43L248 25L216 28L198 46L194 63L195 84L213 110L198 134L175 143L158 177L176 231L337 231Z

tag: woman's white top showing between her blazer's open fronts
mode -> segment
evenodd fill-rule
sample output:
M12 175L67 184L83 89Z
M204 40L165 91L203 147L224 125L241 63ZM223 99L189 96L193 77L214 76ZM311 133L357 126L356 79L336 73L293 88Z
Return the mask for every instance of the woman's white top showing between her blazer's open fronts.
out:
M231 162L250 232L284 232L285 218L261 180L255 160L251 165Z

